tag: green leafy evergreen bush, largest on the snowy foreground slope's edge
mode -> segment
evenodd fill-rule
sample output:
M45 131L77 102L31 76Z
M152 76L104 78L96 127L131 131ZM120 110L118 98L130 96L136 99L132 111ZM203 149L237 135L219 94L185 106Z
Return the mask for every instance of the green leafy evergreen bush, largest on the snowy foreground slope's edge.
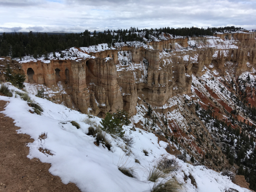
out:
M107 113L105 119L102 119L100 122L103 131L118 137L123 137L123 125L120 123L120 119L113 119L113 116L110 113Z

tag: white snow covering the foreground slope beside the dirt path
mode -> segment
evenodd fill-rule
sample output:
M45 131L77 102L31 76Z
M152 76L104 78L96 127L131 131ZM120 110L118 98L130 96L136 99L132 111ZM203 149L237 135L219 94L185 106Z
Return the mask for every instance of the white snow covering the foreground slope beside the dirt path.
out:
M9 89L22 92L12 85ZM154 183L147 181L147 169L156 165L163 156L176 158L166 152L167 143L158 143L153 133L139 128L132 131L132 126L123 126L125 134L133 137L135 141L129 150L121 138L109 134L107 137L112 145L110 150L102 143L98 147L94 144L95 138L87 135L90 125L82 122L87 115L29 95L43 107L42 115L31 114L29 110L33 109L28 106L27 101L20 99L19 95L15 98L15 94L13 97L0 96L0 100L8 101L2 113L14 119L15 125L20 127L18 133L28 134L34 139L33 143L28 143L28 158L39 158L42 162L50 163L49 172L59 176L65 184L75 183L83 192L150 191ZM100 118L93 116L92 119L100 124ZM70 121L78 122L81 128L77 129ZM40 137L44 134L45 137ZM43 151L40 152L39 148ZM148 151L148 156L145 156L143 149ZM138 159L140 164L135 163L135 159ZM232 183L227 176L204 166L193 166L179 159L177 161L180 172L173 173L172 177L176 177L178 182L183 184L182 191L224 192L229 188L239 192L249 191ZM118 166L132 167L133 178L120 172ZM184 174L188 176L189 173L194 175L197 188L191 184L189 178L184 181Z

